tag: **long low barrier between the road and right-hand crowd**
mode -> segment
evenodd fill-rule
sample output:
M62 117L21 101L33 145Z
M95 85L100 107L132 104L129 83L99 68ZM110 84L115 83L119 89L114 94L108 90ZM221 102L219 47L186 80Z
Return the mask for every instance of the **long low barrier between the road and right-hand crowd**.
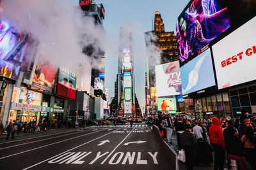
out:
M159 132L159 128L156 125L152 125L152 132L156 136L159 141L159 146L163 147L164 155L169 159L170 164L172 165L172 169L179 170L179 163L178 163L178 154L170 147L162 138Z

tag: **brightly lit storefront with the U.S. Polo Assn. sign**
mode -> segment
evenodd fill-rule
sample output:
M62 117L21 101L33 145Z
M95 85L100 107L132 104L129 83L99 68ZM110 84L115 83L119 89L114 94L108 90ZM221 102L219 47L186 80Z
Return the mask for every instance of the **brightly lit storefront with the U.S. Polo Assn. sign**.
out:
M25 88L13 88L8 121L30 122L40 120L42 94Z

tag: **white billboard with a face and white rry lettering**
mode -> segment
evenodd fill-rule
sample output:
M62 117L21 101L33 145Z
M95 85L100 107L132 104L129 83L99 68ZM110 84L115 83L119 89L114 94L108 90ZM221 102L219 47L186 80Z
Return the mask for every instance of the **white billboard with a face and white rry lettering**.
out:
M156 66L157 97L179 95L181 92L179 60Z

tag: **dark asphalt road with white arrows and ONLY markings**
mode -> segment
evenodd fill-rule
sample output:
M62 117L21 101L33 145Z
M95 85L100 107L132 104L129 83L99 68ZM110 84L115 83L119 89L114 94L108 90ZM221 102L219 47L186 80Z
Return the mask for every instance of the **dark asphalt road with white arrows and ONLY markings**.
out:
M87 127L0 143L1 169L172 169L147 126Z

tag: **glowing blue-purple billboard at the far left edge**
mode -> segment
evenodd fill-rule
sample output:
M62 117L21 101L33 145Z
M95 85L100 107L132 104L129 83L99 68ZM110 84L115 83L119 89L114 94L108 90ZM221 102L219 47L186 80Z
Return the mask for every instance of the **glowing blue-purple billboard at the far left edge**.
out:
M33 66L31 60L35 59L36 41L29 38L28 34L20 34L13 25L0 20L0 75L17 80L19 71L24 71L24 78L30 79ZM26 62L24 68L21 64ZM32 69L31 69L32 70Z

